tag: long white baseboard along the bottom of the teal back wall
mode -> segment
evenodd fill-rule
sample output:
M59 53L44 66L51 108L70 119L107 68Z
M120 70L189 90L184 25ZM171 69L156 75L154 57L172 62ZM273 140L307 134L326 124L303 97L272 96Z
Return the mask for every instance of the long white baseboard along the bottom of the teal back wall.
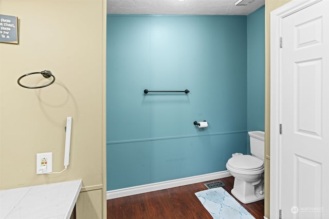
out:
M106 192L106 198L107 200L118 198L118 197L124 197L129 195L136 195L141 194L145 192L153 192L161 189L169 189L177 186L185 186L189 184L194 183L202 183L206 181L211 180L217 180L218 178L224 178L231 176L230 172L220 171L220 172L214 172L214 173L208 173L204 175L197 175L197 176L191 176L186 178L179 178L177 180L170 180L170 181L163 181L159 183L151 183L141 186L134 186L129 188L123 188L123 189L116 189L116 190L110 190Z

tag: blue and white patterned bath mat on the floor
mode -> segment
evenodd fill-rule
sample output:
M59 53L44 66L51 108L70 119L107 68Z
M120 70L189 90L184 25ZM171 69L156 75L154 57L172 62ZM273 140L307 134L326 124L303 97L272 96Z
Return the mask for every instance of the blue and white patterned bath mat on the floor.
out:
M195 195L214 219L254 219L222 187L199 191Z

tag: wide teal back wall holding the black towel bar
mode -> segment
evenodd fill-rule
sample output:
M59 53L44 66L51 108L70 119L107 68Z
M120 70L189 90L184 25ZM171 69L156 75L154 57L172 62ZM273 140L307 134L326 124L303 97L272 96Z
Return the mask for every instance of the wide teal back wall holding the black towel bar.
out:
M248 152L247 20L107 16L107 190L223 171Z

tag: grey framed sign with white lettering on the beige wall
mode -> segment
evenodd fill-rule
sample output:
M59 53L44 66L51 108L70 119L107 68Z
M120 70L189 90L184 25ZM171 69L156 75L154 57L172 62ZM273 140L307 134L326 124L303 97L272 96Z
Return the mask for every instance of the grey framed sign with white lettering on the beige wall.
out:
M0 43L19 43L17 17L0 14Z

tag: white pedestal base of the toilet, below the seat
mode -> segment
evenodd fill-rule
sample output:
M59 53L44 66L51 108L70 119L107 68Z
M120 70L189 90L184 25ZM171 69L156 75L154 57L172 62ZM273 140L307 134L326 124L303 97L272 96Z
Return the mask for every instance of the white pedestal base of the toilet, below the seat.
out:
M241 181L234 178L234 185L231 193L243 204L249 204L264 199L264 180L257 185L251 182Z

